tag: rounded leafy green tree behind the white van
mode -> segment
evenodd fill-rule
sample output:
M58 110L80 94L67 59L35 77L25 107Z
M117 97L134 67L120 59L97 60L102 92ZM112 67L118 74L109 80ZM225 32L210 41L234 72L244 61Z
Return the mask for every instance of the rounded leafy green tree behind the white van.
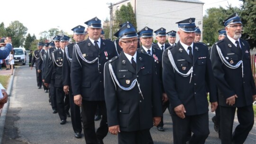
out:
M27 34L27 27L16 20L10 23L9 27L6 28L6 32L11 37L13 47L23 46Z

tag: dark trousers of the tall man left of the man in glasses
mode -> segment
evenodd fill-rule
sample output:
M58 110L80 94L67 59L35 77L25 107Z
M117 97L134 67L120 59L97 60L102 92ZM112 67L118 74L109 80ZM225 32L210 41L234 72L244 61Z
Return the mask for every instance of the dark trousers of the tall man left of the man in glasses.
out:
M94 115L99 105L102 118L100 127L95 133ZM107 124L107 109L105 101L82 100L82 125L86 144L98 144L97 139L102 140L109 131Z

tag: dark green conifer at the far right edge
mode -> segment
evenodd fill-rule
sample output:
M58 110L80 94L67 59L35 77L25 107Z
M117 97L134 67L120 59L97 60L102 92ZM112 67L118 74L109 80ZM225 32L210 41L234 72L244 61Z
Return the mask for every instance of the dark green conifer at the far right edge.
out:
M242 37L247 40L251 49L256 47L256 0L242 0L240 18L243 23Z

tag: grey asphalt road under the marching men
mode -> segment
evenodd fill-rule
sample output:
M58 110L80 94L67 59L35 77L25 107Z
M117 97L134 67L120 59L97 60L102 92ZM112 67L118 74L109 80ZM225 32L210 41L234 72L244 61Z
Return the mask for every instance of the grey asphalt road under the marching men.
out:
M85 144L83 132L81 139L74 137L70 117L65 125L60 125L58 114L52 113L48 93L37 89L36 70L30 70L28 65L15 68L2 144ZM220 144L211 122L213 116L209 112L210 135L205 144ZM165 132L157 131L156 127L151 129L155 144L173 144L172 120L168 110L164 114L164 124ZM98 126L99 121L96 121ZM245 144L255 144L255 140L256 124ZM104 143L117 144L117 136L108 134Z

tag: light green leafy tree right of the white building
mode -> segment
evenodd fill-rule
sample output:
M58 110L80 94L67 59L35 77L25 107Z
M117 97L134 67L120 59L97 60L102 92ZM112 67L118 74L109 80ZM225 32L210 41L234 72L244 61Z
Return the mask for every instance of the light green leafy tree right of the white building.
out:
M207 9L203 16L203 42L209 45L216 43L219 35L218 30L224 28L223 20L235 12L239 13L240 9L231 7L231 4L227 9L221 6Z

